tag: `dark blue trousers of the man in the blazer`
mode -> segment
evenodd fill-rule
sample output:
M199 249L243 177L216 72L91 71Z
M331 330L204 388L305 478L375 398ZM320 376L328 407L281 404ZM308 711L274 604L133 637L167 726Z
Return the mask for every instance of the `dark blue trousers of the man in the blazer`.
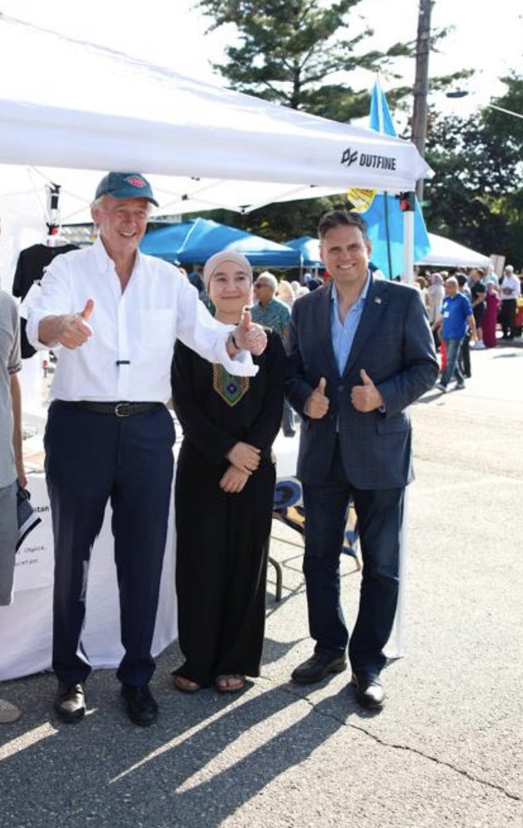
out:
M345 652L348 629L340 601L339 556L351 497L362 550L362 586L348 655L354 671L378 675L398 596L400 531L405 489L357 489L347 479L339 446L329 478L303 485L304 575L310 635L316 651Z

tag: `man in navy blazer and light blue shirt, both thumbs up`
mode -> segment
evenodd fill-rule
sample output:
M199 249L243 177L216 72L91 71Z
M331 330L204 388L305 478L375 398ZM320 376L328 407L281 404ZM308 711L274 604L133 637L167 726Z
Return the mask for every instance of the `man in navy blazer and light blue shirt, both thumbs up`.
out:
M357 700L379 708L396 613L405 485L412 474L407 407L434 386L438 363L420 292L372 276L357 214L319 222L332 282L295 301L287 396L302 417L297 475L305 504L304 574L314 653L292 673L308 684L347 667ZM349 500L363 575L353 633L343 619L339 556Z

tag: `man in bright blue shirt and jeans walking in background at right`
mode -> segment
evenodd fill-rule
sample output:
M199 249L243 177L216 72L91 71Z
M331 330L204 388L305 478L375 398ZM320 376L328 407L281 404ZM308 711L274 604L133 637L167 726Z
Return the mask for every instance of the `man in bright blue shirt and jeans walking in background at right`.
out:
M441 306L439 321L442 323L442 339L447 349L447 365L441 375L436 388L440 391L449 390L449 382L455 376L458 380L456 388L465 388L465 378L458 365L459 352L468 327L471 330L471 339L476 341L476 323L473 309L468 299L458 290L458 280L449 276L445 282L445 298Z

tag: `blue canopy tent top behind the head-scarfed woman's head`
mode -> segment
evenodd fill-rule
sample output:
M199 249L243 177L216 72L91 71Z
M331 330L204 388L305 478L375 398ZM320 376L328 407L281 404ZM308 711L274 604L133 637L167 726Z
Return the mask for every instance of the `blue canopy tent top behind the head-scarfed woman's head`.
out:
M169 224L146 233L142 253L181 264L205 262L219 250L243 253L253 267L300 267L300 251L210 219Z

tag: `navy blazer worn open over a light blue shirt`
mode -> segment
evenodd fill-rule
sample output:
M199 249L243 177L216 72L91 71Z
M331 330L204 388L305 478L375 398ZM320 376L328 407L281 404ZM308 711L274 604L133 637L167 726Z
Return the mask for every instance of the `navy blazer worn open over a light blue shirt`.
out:
M371 277L348 362L340 376L330 330L332 286L295 301L287 348L286 394L302 417L297 476L322 484L329 474L336 424L343 465L357 489L393 489L413 477L410 416L406 411L434 386L438 362L420 291ZM385 412L357 412L351 388L365 368L385 400ZM329 412L313 420L304 412L324 377Z

